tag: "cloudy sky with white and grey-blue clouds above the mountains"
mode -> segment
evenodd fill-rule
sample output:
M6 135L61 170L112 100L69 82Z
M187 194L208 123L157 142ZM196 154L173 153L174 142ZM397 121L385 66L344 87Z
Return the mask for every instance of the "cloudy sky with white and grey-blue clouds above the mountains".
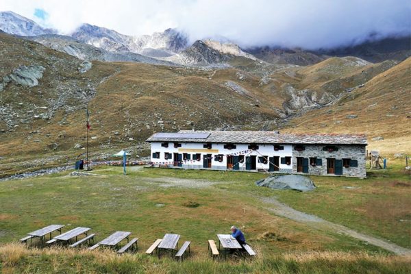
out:
M1 0L0 10L63 34L81 23L129 35L175 27L192 41L225 37L242 47L315 49L411 34L411 0Z

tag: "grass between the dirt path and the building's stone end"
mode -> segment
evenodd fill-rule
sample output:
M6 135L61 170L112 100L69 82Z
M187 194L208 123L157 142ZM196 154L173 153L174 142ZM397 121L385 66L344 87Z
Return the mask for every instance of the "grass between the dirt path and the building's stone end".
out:
M312 177L318 186L313 192L275 195L297 210L411 248L411 177L401 169L394 163L363 180Z

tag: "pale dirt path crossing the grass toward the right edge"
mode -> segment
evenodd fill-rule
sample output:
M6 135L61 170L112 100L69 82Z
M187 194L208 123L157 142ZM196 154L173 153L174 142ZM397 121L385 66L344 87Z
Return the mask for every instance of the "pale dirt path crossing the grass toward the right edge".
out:
M369 242L371 245L375 245L376 247L382 247L383 249L386 249L398 255L411 256L410 249L399 247L398 245L395 245L392 242L388 242L387 240L382 240L379 238L375 238L373 236L368 236L368 235L356 232L353 229L349 229L348 227L345 227L343 225L337 225L336 223L325 221L324 219L321 219L317 216L306 214L304 212L295 210L293 208L290 208L286 204L277 201L274 198L263 198L261 200L264 201L264 203L274 206L272 208L271 207L267 208L267 210L270 210L271 212L274 212L275 214L279 216L283 216L283 217L286 217L288 219L291 219L297 222L305 223L307 225L310 225L312 227L316 227L319 229L332 230L333 232L337 232L339 234L346 234L353 238L363 240L364 242Z

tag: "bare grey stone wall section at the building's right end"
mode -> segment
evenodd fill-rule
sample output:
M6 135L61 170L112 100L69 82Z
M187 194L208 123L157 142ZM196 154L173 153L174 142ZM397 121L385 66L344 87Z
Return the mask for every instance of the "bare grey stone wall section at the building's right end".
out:
M303 151L292 148L292 172L297 173L297 157L302 158L321 158L321 166L308 165L308 174L312 175L330 175L327 174L327 158L336 160L351 159L357 160L357 167L344 167L343 176L349 177L366 177L366 149L364 145L335 145L338 151L324 151L325 145L303 145Z

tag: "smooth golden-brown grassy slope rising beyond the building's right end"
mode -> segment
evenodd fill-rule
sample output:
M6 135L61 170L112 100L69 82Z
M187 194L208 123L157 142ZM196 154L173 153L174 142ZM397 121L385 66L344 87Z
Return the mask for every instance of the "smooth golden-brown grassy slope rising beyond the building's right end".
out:
M364 132L371 149L411 151L411 58L379 73L336 103L291 121L288 132ZM382 137L384 140L378 140ZM375 138L375 140L373 140Z

